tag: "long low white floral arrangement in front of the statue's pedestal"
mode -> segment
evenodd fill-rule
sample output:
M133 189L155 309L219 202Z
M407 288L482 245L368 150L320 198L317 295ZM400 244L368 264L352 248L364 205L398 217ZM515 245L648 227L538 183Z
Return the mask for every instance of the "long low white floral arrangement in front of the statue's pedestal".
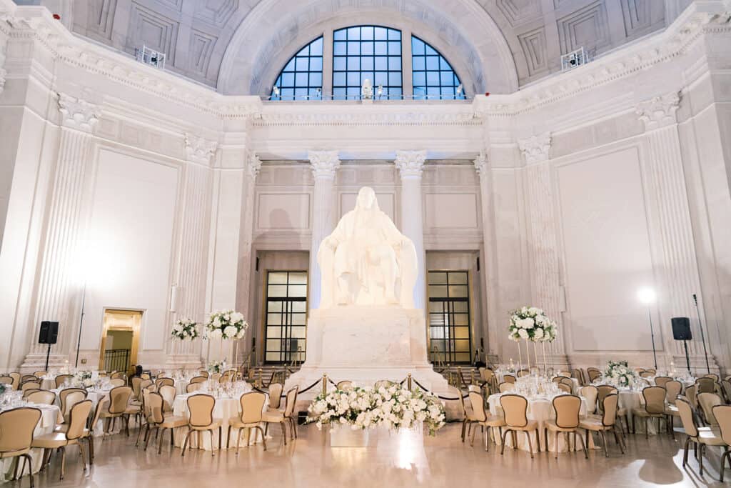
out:
M308 423L321 429L328 424L349 424L353 430L380 425L410 429L423 422L429 435L444 427L444 407L436 397L419 388L396 383L378 389L355 386L348 391L319 394L308 408Z

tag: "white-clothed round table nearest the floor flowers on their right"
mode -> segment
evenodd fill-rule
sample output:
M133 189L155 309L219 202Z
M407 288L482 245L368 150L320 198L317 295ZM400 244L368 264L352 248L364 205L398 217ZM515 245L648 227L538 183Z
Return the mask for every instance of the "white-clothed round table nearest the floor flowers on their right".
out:
M500 406L500 397L503 394L496 393L490 395L488 397L488 404L490 405L490 413L493 416L503 416L503 410ZM586 416L586 399L583 397L581 398L581 408L579 410L579 416L585 417ZM540 446L541 449L545 447L545 423L548 420L553 420L556 418L556 412L553 410L553 397L550 395L531 395L529 397L526 397L528 399L528 418L529 420L535 420L538 421L538 435L540 439ZM505 429L503 427L503 429ZM499 429L493 427L491 429L493 432L493 438L495 439L495 443L500 446L501 445L501 438L499 435ZM583 431L580 431L583 432ZM518 438L518 448L522 449L523 451L529 451L529 443L528 438L526 438L525 433L523 432L517 432L516 433ZM535 442L535 433L529 432L529 435L531 435L531 443L533 443L533 452L538 451L538 446ZM556 432L550 432L548 431L548 450L549 451L555 451L556 450L556 438L554 437L556 435ZM512 447L512 435L507 435L505 438L505 446L506 447ZM591 436L589 436L589 445L586 446L587 448L594 448L594 441L591 439ZM581 442L577 441L575 446L572 446L572 450L578 451L581 448ZM558 452L566 452L568 450L568 446L566 444L566 436L559 435L558 436Z

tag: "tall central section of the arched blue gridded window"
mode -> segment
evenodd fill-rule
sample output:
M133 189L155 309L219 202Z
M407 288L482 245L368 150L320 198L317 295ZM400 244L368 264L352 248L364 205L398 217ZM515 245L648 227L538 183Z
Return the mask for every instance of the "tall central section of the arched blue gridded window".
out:
M401 31L355 26L333 32L333 98L359 100L366 79L374 98L401 99Z

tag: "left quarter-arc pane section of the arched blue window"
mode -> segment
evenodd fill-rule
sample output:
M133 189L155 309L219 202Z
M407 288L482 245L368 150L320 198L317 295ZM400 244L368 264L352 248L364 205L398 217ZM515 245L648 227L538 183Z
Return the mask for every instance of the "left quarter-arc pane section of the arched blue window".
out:
M322 37L289 59L274 83L270 100L322 100Z

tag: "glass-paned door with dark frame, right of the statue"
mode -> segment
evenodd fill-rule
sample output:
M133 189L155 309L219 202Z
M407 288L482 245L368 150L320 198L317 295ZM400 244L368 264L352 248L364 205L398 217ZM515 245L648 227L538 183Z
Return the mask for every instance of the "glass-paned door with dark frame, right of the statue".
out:
M429 339L432 361L469 364L472 337L467 271L429 271Z

